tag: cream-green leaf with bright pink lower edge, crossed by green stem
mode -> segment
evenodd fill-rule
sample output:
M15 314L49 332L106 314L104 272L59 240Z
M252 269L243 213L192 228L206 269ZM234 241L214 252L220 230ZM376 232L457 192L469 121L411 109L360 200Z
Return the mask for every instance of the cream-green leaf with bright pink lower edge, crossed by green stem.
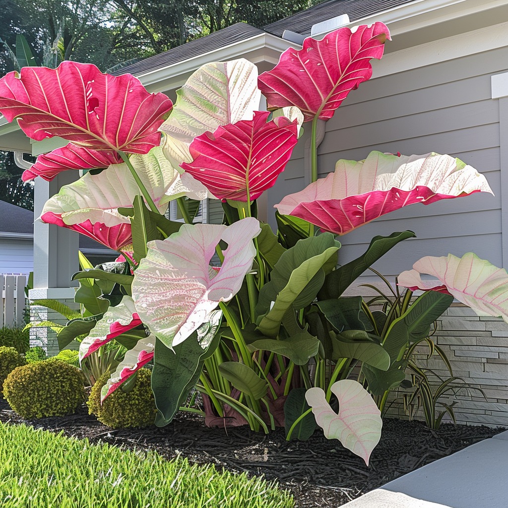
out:
M189 178L182 181L161 147L147 154L131 155L130 161L162 214L172 199L207 197L207 189L201 183ZM118 208L132 207L139 194L138 184L126 164L114 164L98 175L87 173L62 186L44 205L41 219L119 250L132 243L132 235L129 217L120 214Z

